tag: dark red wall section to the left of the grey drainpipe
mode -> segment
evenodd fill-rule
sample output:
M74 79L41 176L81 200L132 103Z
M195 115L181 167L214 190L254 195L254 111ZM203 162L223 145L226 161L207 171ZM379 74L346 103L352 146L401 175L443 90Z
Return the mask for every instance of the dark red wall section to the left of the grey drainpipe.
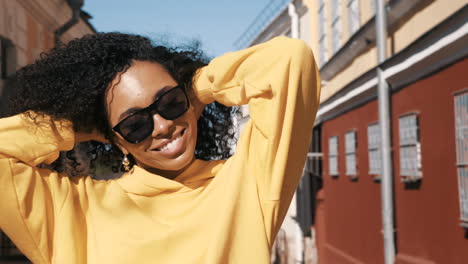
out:
M321 213L325 221L317 223L317 232L325 232L326 241L320 245L319 263L383 262L380 184L368 174L367 155L367 126L377 120L377 102L373 101L322 126L324 211ZM358 178L354 181L345 175L344 135L350 130L357 133ZM338 136L336 178L329 175L327 159L328 139L332 136Z

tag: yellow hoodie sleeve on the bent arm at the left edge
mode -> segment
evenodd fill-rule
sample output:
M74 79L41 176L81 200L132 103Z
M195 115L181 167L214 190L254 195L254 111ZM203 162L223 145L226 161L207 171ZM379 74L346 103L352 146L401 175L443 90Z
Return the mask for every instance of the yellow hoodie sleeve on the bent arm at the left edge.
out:
M68 177L37 165L55 161L74 145L70 122L0 119L0 229L34 263L48 263L54 215L68 193Z

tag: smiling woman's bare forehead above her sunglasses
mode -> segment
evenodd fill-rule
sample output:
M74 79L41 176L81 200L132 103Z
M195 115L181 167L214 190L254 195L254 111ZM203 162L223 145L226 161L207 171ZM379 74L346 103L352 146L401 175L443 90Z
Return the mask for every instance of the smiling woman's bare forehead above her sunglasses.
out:
M154 101L162 89L176 86L177 82L167 70L154 62L135 61L127 71L118 74L106 94L111 124L131 108L144 108Z

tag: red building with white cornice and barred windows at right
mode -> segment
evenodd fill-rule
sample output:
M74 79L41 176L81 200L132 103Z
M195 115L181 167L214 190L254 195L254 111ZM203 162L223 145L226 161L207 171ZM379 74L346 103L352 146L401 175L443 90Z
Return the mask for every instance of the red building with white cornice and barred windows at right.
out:
M396 263L468 263L466 17L465 5L382 65L391 89ZM376 84L373 68L319 110L319 263L384 263Z

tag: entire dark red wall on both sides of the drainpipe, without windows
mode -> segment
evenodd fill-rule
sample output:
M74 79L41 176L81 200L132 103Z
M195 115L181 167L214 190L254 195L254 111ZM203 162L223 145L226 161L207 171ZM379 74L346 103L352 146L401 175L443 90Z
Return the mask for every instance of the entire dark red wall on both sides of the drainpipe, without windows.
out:
M392 95L392 149L397 263L468 263L468 239L460 226L454 130L454 92L468 85L465 59ZM401 182L398 118L419 113L423 178ZM380 184L369 171L367 126L378 120L377 101L322 125L325 241L320 263L383 263ZM358 178L346 175L344 134L357 132ZM329 175L328 139L338 136L339 176ZM319 234L320 235L320 234Z

